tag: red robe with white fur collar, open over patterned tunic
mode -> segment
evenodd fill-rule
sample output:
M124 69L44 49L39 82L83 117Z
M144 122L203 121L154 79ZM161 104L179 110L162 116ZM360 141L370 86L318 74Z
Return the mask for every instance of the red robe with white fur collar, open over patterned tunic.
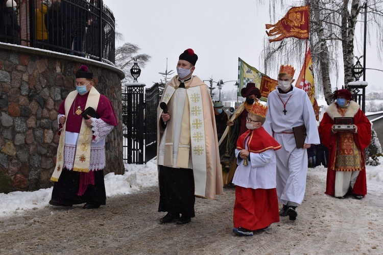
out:
M354 101L349 101L349 106L344 116L338 112L338 108L339 106L335 102L327 107L327 110L323 115L323 119L319 125L319 136L321 138L322 144L328 148L329 155L325 193L334 196L335 190L336 171L332 169L332 166L336 160L337 155L337 134L331 133L331 127L334 124L334 117L353 117L354 124L357 126L357 133L353 134L354 142L362 153L362 170L356 179L355 185L353 187L353 193L364 196L367 194L366 159L364 149L371 142L371 123L366 115L362 112L359 105Z

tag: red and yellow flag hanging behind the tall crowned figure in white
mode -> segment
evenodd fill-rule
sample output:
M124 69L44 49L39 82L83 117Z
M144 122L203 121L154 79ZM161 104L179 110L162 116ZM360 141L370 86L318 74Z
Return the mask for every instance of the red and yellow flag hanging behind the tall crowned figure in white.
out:
M310 49L308 49L305 63L302 66L301 72L299 73L295 87L306 91L310 98L311 104L314 106L315 100L315 86L314 86L314 65L311 58Z

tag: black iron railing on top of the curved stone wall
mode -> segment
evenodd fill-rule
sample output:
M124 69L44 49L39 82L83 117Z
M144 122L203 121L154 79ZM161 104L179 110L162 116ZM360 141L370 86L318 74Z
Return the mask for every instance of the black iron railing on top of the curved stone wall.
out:
M115 20L102 0L0 0L0 41L114 64Z

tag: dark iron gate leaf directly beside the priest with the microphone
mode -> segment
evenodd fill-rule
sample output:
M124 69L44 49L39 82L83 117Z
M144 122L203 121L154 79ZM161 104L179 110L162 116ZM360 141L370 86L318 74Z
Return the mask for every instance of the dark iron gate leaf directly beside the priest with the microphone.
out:
M145 162L157 155L157 107L159 103L158 83L146 89L145 94Z

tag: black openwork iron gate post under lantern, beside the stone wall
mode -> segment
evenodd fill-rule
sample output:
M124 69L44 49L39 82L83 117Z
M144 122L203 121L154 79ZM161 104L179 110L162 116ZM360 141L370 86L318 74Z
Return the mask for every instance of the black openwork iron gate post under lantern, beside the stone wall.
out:
M124 163L143 164L144 117L143 84L128 85L122 93Z

